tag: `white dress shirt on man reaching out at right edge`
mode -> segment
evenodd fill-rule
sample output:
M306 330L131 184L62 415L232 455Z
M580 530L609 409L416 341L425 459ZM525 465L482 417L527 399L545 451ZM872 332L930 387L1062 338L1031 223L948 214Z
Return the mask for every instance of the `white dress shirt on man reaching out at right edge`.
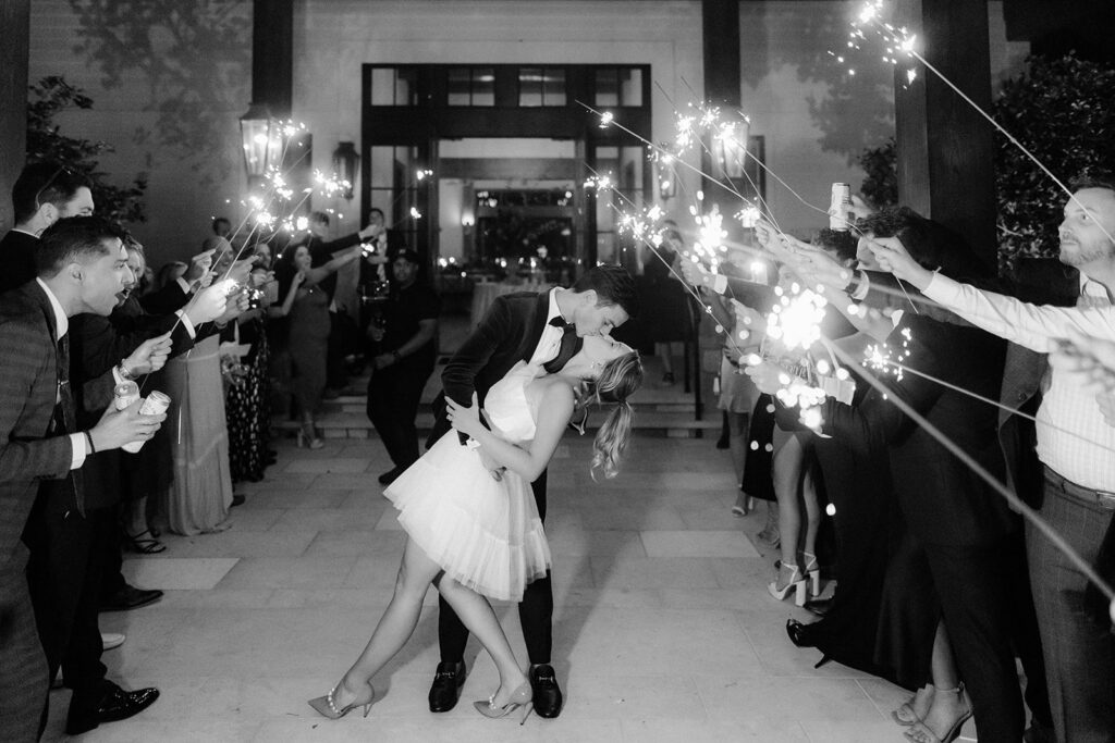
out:
M1107 290L1082 276L1082 304L1054 307L983 292L933 274L923 292L978 327L1046 353L1049 341L1069 327L1115 341L1115 307ZM1094 393L1073 384L1054 369L1037 414L1038 459L1068 480L1093 490L1115 491L1115 428L1099 413Z

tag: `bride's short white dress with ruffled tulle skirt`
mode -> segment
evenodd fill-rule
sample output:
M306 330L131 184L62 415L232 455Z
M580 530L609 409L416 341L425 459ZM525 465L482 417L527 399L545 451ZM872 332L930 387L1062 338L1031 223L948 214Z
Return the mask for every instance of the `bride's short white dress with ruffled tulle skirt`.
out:
M521 444L534 438L536 403L526 385L537 370L520 362L484 400L492 430ZM473 590L521 600L526 584L545 576L550 545L531 485L507 470L496 481L474 449L449 431L384 493L399 524L445 574Z

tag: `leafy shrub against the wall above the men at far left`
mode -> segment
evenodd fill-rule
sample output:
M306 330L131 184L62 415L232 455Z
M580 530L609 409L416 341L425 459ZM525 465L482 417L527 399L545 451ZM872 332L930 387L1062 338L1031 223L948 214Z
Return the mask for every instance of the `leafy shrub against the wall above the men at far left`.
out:
M129 186L114 186L98 169L99 158L114 151L106 141L68 137L55 124L58 114L70 108L90 109L93 99L80 88L58 76L45 77L29 87L27 104L28 162L56 160L89 178L97 213L124 223L146 222L143 203L147 174L139 173Z

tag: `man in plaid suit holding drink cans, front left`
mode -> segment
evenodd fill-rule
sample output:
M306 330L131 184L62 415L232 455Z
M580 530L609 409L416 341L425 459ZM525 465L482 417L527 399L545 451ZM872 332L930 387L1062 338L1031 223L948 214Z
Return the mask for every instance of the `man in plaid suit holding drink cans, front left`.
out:
M35 630L21 532L42 481L79 518L79 468L95 451L149 439L165 416L138 404L91 429L75 423L66 336L80 312L108 314L123 289L127 256L117 233L94 217L68 219L36 248L40 276L0 296L0 740L33 741L46 724L48 675ZM152 350L156 348L152 344ZM165 360L165 349L163 351ZM157 358L153 365L161 364ZM106 366L107 370L107 366Z

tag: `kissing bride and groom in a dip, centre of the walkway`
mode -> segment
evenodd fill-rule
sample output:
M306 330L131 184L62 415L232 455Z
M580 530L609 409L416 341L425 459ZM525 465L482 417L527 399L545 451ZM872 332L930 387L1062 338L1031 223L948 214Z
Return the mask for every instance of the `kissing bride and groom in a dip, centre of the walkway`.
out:
M532 708L543 717L561 713L542 526L546 468L574 413L608 403L613 407L593 441L591 469L605 477L618 471L631 432L628 398L642 382L642 364L610 333L637 314L633 280L609 265L589 270L568 290L495 300L442 374L428 451L384 493L407 534L391 600L341 681L310 701L316 711L338 718L362 707L368 715L371 678L409 639L433 584L440 594L440 663L430 712L456 705L472 633L500 673L498 688L474 703L481 714L521 710L525 721ZM525 672L487 597L518 602Z

